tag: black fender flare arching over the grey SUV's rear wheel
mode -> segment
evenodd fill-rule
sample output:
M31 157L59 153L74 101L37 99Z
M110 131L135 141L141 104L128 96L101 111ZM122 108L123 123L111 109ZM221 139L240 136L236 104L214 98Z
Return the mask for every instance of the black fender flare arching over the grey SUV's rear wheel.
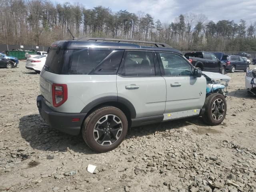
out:
M123 97L118 97L118 96L104 96L100 97L98 99L93 100L89 104L87 104L80 113L88 113L90 110L93 108L100 106L102 104L108 104L108 103L116 103L116 104L121 104L125 106L129 111L131 118L136 118L136 110L133 106L133 104L127 100L126 98Z

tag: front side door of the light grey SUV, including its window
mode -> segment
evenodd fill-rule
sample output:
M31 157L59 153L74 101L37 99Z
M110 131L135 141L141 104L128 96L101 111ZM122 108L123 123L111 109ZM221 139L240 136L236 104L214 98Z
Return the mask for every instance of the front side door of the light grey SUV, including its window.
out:
M161 74L166 80L164 113L201 109L206 97L206 79L193 76L194 68L182 56L158 52Z

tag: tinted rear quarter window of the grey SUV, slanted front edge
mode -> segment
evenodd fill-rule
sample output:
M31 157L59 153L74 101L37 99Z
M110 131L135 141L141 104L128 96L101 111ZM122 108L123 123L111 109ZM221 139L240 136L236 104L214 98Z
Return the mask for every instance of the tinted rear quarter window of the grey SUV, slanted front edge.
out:
M68 74L88 74L110 53L111 51L73 50L68 57L65 56L71 66Z

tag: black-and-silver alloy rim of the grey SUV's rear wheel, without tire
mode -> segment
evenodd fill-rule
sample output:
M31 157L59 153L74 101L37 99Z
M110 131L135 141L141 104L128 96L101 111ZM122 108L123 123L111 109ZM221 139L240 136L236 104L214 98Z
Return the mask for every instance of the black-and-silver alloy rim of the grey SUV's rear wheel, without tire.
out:
M119 139L122 130L122 121L118 116L105 115L94 126L94 140L102 146L110 146Z

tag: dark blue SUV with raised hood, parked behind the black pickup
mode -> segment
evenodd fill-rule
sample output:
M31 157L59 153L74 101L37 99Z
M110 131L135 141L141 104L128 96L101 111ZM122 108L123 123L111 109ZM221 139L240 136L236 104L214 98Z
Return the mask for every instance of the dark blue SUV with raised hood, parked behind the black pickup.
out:
M219 60L226 63L226 70L231 73L234 73L236 70L249 71L248 63L239 55L226 55L222 52L214 52L214 54Z

